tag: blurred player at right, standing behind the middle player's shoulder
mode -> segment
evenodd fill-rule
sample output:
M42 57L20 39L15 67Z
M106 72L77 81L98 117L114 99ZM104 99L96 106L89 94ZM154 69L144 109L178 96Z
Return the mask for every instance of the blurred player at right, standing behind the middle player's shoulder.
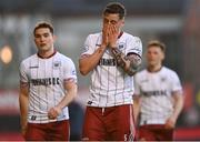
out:
M183 106L178 74L162 65L166 45L150 41L147 69L134 77L133 110L139 124L139 140L172 141L176 122Z

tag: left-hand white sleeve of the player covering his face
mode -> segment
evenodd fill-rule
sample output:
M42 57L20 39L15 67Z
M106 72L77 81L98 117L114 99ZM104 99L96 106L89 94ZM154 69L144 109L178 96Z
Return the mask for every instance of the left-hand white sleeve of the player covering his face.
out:
M84 45L82 48L82 53L83 54L92 54L94 52L93 45L92 45L92 36L89 34L84 41Z

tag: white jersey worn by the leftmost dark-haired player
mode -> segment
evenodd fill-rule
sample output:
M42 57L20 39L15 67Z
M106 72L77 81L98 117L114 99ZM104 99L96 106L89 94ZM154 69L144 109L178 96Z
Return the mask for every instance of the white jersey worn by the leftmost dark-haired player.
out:
M29 83L28 122L47 123L69 119L68 106L57 120L48 119L50 108L66 95L64 80L77 81L76 67L71 59L56 52L48 59L33 54L20 64L20 81Z

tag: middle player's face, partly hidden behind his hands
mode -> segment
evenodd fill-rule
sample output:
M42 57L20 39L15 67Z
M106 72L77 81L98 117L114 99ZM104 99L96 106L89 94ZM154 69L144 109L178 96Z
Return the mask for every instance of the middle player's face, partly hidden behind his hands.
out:
M110 13L103 16L103 28L114 26L119 31L124 24L124 20L119 18L118 13Z

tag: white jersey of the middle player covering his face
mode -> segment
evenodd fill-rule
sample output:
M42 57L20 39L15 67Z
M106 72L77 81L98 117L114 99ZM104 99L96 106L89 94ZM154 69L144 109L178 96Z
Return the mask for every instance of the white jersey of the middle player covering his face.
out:
M81 55L92 54L100 47L101 41L102 32L89 34ZM142 44L138 37L122 32L117 44L124 54L142 55ZM128 75L117 65L117 61L108 48L92 71L88 105L106 108L131 104L132 94L133 77Z

